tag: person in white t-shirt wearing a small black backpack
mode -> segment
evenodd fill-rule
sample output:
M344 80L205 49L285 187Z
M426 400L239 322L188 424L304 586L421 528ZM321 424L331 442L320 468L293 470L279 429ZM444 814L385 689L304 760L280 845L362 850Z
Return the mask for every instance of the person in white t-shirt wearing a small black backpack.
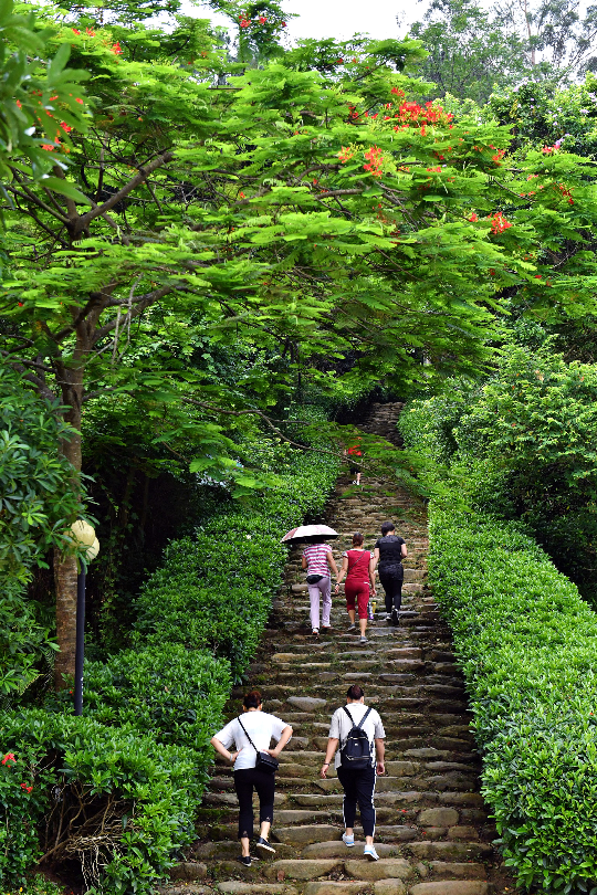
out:
M352 849L355 844L356 807L365 833L364 854L369 861L378 861L374 845L375 833L375 778L385 773L384 757L386 731L379 714L365 705L365 693L358 684L348 687L346 705L336 709L329 725L329 739L325 761L320 776L325 778L329 762L336 752L335 768L344 789L344 833L342 841Z

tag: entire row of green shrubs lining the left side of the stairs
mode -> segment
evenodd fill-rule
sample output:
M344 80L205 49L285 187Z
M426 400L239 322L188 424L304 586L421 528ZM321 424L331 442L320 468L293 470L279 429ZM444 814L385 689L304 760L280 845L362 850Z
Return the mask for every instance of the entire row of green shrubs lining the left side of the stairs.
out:
M83 718L60 699L2 717L0 748L14 760L0 765L0 883L49 854L77 859L88 893L143 895L191 841L209 739L280 586L279 540L323 507L339 468L322 452L279 460L279 487L169 546L139 598L133 647L86 663Z

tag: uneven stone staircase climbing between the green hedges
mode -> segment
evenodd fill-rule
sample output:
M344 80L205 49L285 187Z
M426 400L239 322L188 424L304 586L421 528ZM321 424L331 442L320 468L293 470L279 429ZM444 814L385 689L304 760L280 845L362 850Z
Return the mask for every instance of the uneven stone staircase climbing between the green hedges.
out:
M363 431L399 443L401 404L374 404ZM308 597L301 550L293 549L285 583L274 602L249 683L261 689L264 709L292 725L294 735L281 755L271 841L276 853L250 868L235 859L237 799L232 771L217 764L198 819L198 840L176 881L164 889L229 895L501 895L515 885L491 842L495 830L479 793L479 757L469 729L464 683L442 622L426 585L428 547L425 509L390 477L365 473L360 488L347 475L338 480L326 518L342 533L332 541L342 551L360 530L373 547L381 523L396 523L407 541L401 622L391 628L377 613L368 644L348 634L344 598L334 599L333 632L311 635ZM383 591L378 589L383 609ZM365 702L380 713L386 728L386 776L376 787L376 847L380 860L363 856L341 840L342 788L333 768L318 770L329 717L345 702L350 683L365 689ZM229 716L240 712L242 693L232 694ZM256 800L255 800L256 807ZM258 826L255 815L255 829ZM360 832L360 835L359 835ZM359 841L360 840L360 841ZM254 851L253 851L254 854Z

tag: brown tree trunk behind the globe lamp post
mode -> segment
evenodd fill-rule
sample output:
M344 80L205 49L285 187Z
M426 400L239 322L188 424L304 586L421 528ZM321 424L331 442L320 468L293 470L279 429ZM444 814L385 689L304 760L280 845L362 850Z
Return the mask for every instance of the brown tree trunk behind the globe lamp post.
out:
M81 407L83 402L83 373L81 362L84 355L85 339L77 337L74 367L59 364L57 380L62 389L62 402L67 408L64 419L75 429L76 434L69 441L62 442L64 456L74 467L73 487L81 487L80 473L82 465L81 453ZM78 357L77 357L78 356ZM74 522L74 519L73 519ZM60 652L56 654L54 665L54 687L56 691L67 686L64 675L74 677L75 649L76 649L76 559L54 550L54 586L56 591L56 633Z

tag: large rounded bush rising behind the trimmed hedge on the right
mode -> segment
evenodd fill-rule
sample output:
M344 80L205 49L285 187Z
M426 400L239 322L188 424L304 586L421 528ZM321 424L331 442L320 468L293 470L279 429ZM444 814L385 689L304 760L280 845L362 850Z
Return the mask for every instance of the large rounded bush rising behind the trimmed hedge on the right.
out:
M520 519L597 604L597 366L549 340L510 345L476 386L415 401L407 442L448 464L474 508Z

